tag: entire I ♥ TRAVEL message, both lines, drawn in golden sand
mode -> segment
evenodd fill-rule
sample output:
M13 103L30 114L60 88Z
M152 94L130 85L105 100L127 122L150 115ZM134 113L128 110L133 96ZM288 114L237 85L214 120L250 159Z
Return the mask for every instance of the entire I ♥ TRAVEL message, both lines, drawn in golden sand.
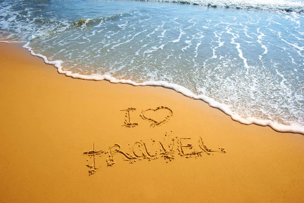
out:
M132 122L130 117L130 112L136 111L136 108L128 108L125 110L120 110L125 112L125 127L136 127L138 123ZM157 107L156 109L147 109L141 112L140 117L150 123L151 127L160 126L167 123L173 116L173 111L168 107ZM83 155L88 156L86 166L89 167L89 176L95 174L100 166L96 166L96 159L107 155L106 163L107 166L112 166L116 163L115 158L117 156L122 156L122 158L129 163L134 163L140 160L156 160L163 158L168 161L172 161L175 158L176 153L180 157L185 158L198 158L202 157L203 154L213 155L216 152L226 153L224 148L218 148L218 150L209 149L201 137L199 137L198 146L195 147L191 138L179 138L178 136L172 136L171 133L165 133L164 139L162 141L156 142L154 139L150 141L143 142L142 140L136 141L133 145L128 144L128 150L122 150L120 144L115 144L108 147L107 150L96 150L95 143L89 151L85 151ZM157 144L156 144L157 143ZM155 150L151 152L151 150Z

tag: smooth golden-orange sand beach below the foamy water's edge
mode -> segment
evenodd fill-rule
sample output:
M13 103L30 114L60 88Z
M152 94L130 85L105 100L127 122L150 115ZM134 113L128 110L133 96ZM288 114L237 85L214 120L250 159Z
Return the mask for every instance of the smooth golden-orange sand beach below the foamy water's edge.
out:
M20 46L0 44L0 202L303 202L303 135L68 78Z

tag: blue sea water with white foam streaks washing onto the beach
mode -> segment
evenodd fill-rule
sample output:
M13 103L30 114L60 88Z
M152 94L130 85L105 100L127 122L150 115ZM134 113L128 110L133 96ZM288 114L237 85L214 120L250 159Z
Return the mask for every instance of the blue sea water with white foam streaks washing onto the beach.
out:
M164 86L304 134L304 1L172 2L0 0L0 41L73 78Z

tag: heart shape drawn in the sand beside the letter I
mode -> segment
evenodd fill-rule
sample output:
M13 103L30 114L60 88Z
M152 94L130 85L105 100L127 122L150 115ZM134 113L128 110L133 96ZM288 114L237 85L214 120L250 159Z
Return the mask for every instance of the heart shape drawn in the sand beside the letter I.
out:
M173 112L168 107L158 107L156 109L147 109L140 115L142 119L148 120L151 126L157 126L165 123L173 115Z

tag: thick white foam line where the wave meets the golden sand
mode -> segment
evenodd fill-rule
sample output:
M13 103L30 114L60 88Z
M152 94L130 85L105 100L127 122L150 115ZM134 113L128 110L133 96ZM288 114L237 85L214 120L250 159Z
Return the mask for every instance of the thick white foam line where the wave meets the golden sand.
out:
M116 79L114 77L111 77L108 74L105 74L105 75L98 75L98 74L81 75L81 74L72 73L71 71L63 71L62 70L62 65L61 65L63 63L62 60L49 61L46 56L44 56L42 54L34 53L31 49L31 47L29 47L29 44L30 44L30 42L27 42L23 47L26 48L28 51L30 51L31 55L38 56L38 57L42 58L45 61L45 63L54 65L58 69L58 73L65 74L66 76L71 77L71 78L77 78L77 79L83 79L83 80L95 80L95 81L107 80L111 83L130 84L130 85L133 85L133 86L161 86L161 87L173 89L176 92L179 92L179 93L181 93L181 94L183 94L187 97L203 100L206 103L208 103L209 106L221 110L225 114L231 116L231 118L233 120L238 121L242 124L246 124L246 125L257 124L257 125L261 125L261 126L270 126L274 130L279 131L279 132L292 132L292 133L304 134L304 127L300 126L300 125L296 125L296 124L283 125L283 124L279 124L279 123L271 121L271 120L259 120L259 119L250 118L250 117L249 118L242 118L240 115L237 115L233 111L231 111L228 106L226 106L224 104L221 104L218 101L215 101L214 99L212 99L212 98L210 98L206 95L202 95L202 94L201 95L196 95L191 90L189 90L189 89L187 89L183 86L168 83L166 81L146 81L146 82L143 82L143 83L136 83L132 80L119 80L119 79ZM197 47L198 46L199 46L199 44L197 45Z

